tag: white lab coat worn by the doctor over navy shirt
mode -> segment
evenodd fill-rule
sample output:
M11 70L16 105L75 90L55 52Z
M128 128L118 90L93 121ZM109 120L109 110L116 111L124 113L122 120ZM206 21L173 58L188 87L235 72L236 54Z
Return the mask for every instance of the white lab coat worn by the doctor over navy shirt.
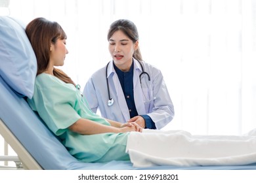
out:
M148 114L155 123L156 128L161 129L171 122L174 116L173 103L165 86L163 75L159 69L156 69L156 67L142 62L144 71L150 75L151 80L148 81L148 77L142 75L142 85L140 85L139 75L142 73L142 68L136 59L133 60L133 89L137 112L139 115ZM100 114L104 118L125 123L130 118L129 109L114 69L113 61L110 61L107 73L110 97L114 99L114 104L112 106L108 106L106 66L96 71L89 78L87 84L85 84L83 96L87 99L93 112L96 112L99 108ZM142 88L144 92L142 91Z

